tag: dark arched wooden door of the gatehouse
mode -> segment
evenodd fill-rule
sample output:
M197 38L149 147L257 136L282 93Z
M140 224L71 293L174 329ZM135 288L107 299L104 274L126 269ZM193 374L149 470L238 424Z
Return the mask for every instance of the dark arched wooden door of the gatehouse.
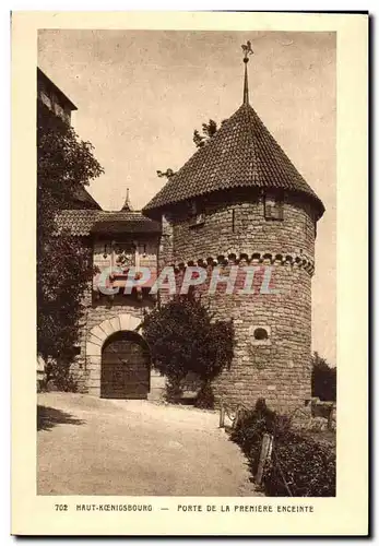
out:
M150 391L149 349L138 334L119 332L102 356L103 399L146 399Z

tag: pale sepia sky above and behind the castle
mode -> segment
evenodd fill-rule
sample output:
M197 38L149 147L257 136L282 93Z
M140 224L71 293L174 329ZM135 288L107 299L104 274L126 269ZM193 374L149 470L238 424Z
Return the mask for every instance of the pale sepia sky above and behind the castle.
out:
M250 40L250 104L327 212L318 223L312 348L336 364L336 70L334 33L39 31L38 64L76 105L72 124L105 174L88 191L119 210L162 188L156 170L194 153L194 129L240 106Z

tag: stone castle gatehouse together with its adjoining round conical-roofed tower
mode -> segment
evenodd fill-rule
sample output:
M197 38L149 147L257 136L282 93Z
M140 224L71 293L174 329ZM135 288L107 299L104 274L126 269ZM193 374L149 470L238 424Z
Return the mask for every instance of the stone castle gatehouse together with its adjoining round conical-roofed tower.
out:
M119 212L62 211L58 228L93 248L94 264L156 274L199 264L270 271L270 284L251 294L203 293L215 319L233 319L235 354L213 384L217 401L291 410L311 396L311 278L317 222L324 207L249 103L245 59L242 104L212 139L171 176L142 211L129 199ZM197 288L199 292L201 287ZM140 329L154 298L149 285L130 295L104 295L94 278L85 295L73 372L80 390L104 397L159 397L164 378L150 366Z

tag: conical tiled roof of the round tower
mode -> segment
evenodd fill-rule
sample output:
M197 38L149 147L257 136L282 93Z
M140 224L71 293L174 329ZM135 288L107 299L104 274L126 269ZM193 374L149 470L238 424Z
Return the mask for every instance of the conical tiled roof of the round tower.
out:
M270 188L301 193L320 217L321 200L246 102L143 209L146 215L206 193L233 188Z

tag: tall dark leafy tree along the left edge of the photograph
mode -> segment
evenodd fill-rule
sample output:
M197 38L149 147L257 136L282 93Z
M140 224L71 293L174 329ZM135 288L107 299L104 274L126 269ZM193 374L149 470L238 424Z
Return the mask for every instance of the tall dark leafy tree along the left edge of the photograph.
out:
M58 237L56 216L71 207L80 186L102 173L92 144L38 106L37 351L45 361L57 363L48 365L50 376L67 376L79 336L83 293L94 274L90 246L68 233Z

